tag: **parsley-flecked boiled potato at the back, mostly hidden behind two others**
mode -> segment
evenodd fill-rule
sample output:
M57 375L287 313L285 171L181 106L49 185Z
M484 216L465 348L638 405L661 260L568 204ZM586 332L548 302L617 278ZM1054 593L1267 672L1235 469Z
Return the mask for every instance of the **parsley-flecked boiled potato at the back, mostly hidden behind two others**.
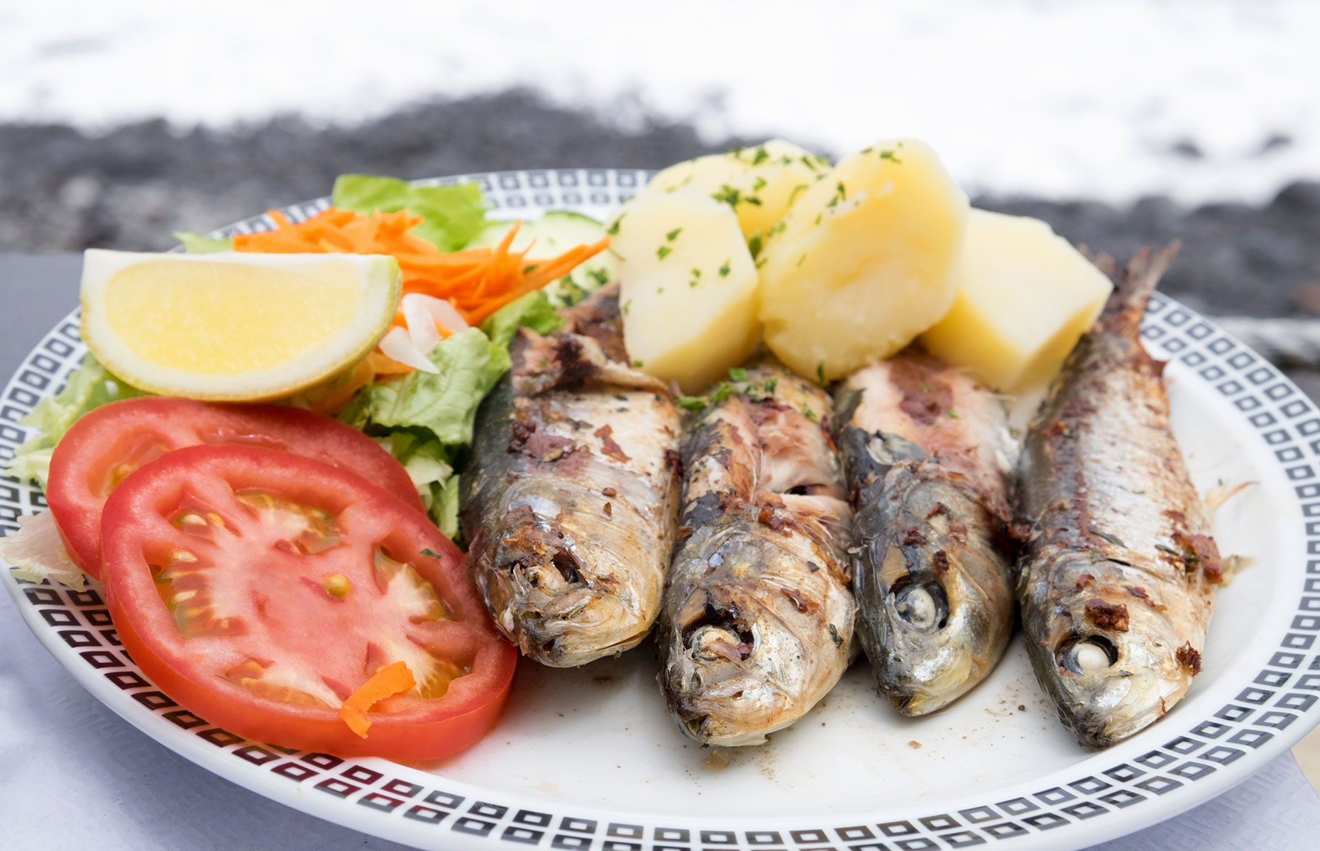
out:
M783 139L672 165L647 183L647 193L698 189L734 208L743 236L758 239L812 183L829 174L829 160ZM759 237L764 239L764 236ZM755 244L755 243L754 243Z

